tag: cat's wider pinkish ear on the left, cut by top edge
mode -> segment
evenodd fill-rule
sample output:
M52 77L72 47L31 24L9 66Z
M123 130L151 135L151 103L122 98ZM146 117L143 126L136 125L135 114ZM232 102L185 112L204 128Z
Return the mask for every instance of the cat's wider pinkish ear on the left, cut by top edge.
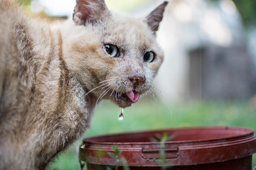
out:
M110 14L104 0L76 0L73 21L78 25L94 23L102 15Z

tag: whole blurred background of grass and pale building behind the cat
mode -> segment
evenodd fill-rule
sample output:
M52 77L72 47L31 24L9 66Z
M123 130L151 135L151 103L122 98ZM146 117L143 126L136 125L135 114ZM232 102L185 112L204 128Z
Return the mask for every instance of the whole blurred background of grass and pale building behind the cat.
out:
M19 1L31 15L63 20L75 0ZM163 0L105 0L110 10L146 16ZM157 33L165 58L155 83L161 92L125 108L97 105L84 137L187 126L256 130L256 1L169 0ZM75 148L48 169L79 169ZM256 155L253 155L253 164Z

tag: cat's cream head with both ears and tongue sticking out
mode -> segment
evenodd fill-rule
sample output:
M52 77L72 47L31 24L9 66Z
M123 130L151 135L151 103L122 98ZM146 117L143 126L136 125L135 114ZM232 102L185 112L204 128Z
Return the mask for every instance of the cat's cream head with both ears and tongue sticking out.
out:
M63 54L87 92L125 108L150 90L163 61L155 32L166 5L146 18L133 18L110 12L104 0L76 0Z

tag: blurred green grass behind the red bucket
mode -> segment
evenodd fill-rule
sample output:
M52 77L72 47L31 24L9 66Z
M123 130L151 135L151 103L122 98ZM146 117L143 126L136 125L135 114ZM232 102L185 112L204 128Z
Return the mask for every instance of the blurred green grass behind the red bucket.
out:
M187 126L243 126L256 130L256 104L250 101L172 103L168 107L161 100L141 99L132 107L125 108L123 121L119 121L121 108L103 101L97 106L92 126L86 131L85 137ZM79 169L75 146L80 143L76 142L61 154L48 169ZM255 163L256 154L253 155Z

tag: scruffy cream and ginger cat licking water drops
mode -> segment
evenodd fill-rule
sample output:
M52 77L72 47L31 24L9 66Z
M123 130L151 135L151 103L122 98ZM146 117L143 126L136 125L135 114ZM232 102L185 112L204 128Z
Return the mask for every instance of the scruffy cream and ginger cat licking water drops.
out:
M76 0L57 24L0 0L0 169L46 168L85 132L98 101L130 107L150 90L167 3L133 18Z

